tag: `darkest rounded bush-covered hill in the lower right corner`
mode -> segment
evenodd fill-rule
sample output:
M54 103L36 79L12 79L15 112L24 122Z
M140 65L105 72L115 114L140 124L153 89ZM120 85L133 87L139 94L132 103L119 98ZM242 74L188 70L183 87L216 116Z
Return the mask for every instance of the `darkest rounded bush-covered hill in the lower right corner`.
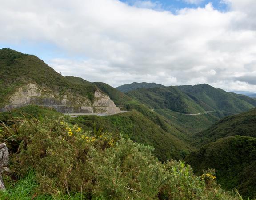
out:
M216 169L217 183L223 188L237 188L245 198L256 197L256 138L224 137L192 152L186 161L198 175L203 169Z

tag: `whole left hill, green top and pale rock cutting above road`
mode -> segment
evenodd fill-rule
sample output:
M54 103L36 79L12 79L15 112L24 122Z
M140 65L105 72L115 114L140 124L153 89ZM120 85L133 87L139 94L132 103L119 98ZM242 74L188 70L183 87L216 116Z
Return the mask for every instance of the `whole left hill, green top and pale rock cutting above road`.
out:
M95 84L61 76L36 56L0 49L0 111L28 104L59 112L120 112Z

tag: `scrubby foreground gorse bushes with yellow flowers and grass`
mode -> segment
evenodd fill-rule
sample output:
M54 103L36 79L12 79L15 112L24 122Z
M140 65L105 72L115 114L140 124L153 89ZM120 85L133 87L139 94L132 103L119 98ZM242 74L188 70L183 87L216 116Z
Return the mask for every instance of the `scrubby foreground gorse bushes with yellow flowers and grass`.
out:
M183 162L159 162L151 147L63 117L3 125L0 134L13 171L4 199L241 199L220 189L211 170L196 176Z

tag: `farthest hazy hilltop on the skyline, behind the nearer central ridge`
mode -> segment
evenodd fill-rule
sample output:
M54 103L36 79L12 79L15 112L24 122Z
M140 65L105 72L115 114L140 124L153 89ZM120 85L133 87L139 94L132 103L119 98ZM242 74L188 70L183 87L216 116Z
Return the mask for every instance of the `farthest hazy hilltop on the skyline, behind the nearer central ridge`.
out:
M139 89L139 88L162 88L165 87L164 85L161 84L156 84L156 83L146 83L146 82L142 82L142 83L136 83L133 82L131 84L125 84L125 85L120 85L118 87L116 87L116 89L118 89L121 92L129 92L131 90L135 90L135 89Z

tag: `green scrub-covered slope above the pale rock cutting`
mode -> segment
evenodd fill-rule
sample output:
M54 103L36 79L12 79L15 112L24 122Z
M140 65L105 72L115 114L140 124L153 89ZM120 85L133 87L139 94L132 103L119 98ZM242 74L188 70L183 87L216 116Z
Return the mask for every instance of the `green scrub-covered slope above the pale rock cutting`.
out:
M88 81L74 82L70 76L61 76L36 56L8 48L0 49L0 107L7 103L8 96L17 88L29 83L44 86L59 95L68 91L90 100L97 88Z

